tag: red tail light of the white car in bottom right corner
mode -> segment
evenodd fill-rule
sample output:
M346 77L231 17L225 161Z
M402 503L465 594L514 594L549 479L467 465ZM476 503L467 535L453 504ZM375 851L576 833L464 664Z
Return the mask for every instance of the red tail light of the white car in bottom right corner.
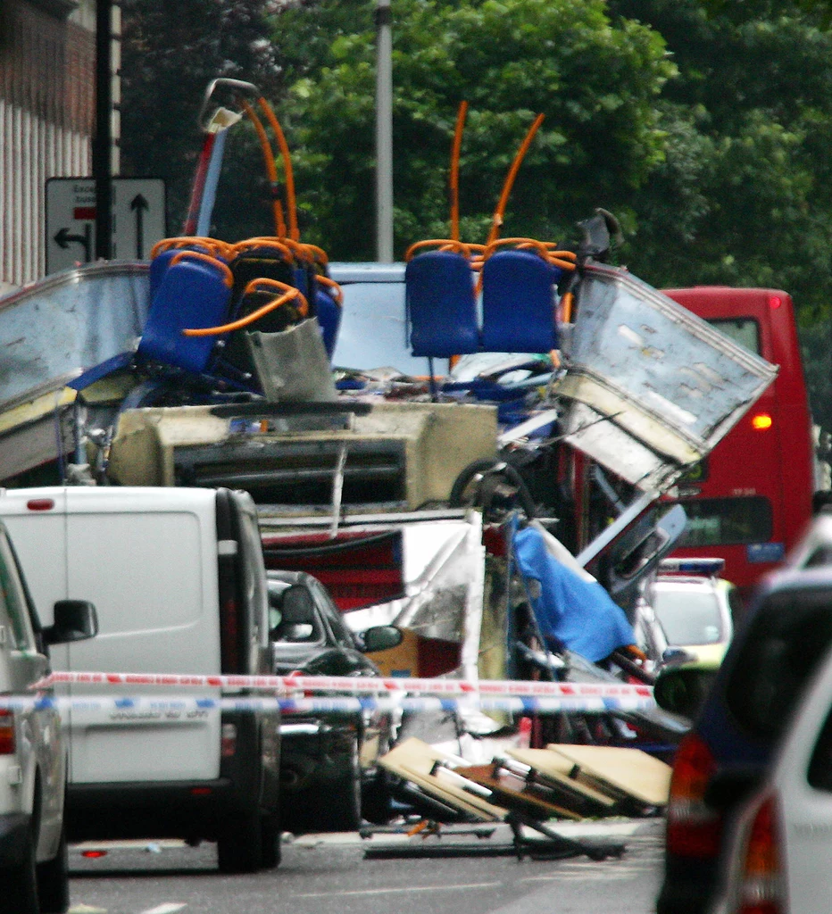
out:
M784 914L777 802L763 799L753 815L742 857L737 914Z

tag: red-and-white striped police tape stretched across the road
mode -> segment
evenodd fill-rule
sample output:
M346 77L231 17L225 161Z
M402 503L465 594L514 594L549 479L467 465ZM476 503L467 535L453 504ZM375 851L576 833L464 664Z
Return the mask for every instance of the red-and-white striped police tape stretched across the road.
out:
M406 692L421 696L641 699L651 703L650 685L630 683L530 682L522 679L411 679L400 676L190 675L167 673L55 672L36 684L159 685L242 688L280 692L345 692L348 695Z

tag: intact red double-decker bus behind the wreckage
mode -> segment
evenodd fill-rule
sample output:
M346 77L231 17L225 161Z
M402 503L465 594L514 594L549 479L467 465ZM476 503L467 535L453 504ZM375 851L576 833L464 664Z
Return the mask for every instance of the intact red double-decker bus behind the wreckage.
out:
M688 532L675 555L724 558L724 577L747 596L782 561L812 514L814 439L794 306L775 289L664 292L780 369L752 409L678 484Z

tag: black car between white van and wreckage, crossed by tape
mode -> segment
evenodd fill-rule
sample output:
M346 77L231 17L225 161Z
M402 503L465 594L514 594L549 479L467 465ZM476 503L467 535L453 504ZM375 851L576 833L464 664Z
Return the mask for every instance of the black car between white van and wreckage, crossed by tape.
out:
M350 631L321 582L303 571L269 572L274 672L286 675L379 676L364 652L401 641L392 625ZM393 736L389 713L321 713L283 717L283 828L295 834L357 829L362 813L384 818L379 756Z

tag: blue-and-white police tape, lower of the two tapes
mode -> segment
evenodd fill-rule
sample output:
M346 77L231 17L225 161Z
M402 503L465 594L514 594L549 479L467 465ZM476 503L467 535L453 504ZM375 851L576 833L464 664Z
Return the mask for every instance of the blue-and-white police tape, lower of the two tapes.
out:
M604 714L654 709L654 700L644 696L624 697L511 697L446 696L411 697L404 693L385 696L295 697L190 697L151 696L0 696L0 711L54 709L71 714L73 726L87 720L187 721L208 717L211 711L280 711L285 715L392 713L394 711L503 711L511 714Z

